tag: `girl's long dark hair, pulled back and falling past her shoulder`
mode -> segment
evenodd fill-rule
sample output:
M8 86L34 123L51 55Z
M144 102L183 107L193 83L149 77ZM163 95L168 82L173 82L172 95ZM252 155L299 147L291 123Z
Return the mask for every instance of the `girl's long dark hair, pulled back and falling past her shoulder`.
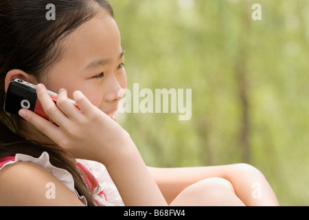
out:
M47 19L45 0L0 1L0 159L16 153L38 157L47 151L51 163L71 173L76 190L93 206L91 190L84 184L76 163L56 146L18 135L21 119L3 111L5 76L10 70L21 69L39 81L61 58L65 37L93 18L98 8L104 8L113 17L113 9L105 0L53 0L52 3L56 9L55 20Z

